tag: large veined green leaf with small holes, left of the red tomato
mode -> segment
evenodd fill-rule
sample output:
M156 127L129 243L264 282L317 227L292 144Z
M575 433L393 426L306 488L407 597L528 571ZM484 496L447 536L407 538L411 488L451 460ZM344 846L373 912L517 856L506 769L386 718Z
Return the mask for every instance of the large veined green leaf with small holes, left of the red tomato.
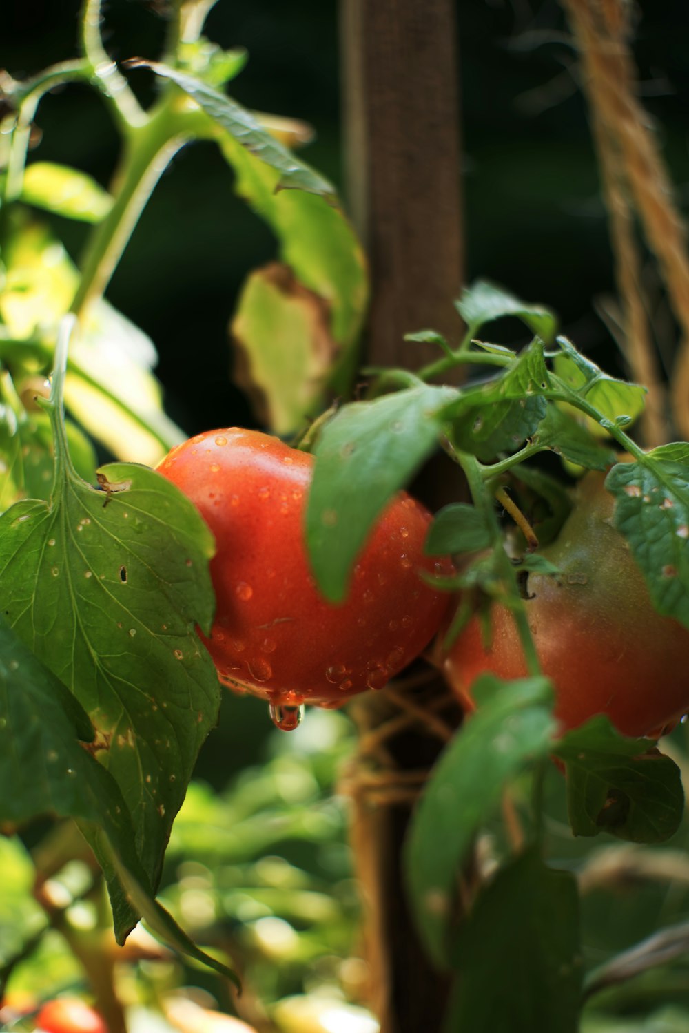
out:
M160 474L112 464L107 493L62 472L49 502L0 518L0 601L20 638L67 685L132 814L157 883L173 819L214 727L211 534Z

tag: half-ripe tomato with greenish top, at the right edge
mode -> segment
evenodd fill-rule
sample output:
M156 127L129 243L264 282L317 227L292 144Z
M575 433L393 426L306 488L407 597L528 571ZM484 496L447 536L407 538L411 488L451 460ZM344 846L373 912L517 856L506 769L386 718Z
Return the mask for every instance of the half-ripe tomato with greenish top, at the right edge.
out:
M543 672L556 687L564 729L606 714L626 735L655 738L689 710L689 631L661 617L629 546L613 526L615 500L603 475L584 477L557 541L542 550L562 573L529 575L525 605ZM450 685L469 709L483 671L527 674L511 614L491 607L492 644L473 619L445 661Z

